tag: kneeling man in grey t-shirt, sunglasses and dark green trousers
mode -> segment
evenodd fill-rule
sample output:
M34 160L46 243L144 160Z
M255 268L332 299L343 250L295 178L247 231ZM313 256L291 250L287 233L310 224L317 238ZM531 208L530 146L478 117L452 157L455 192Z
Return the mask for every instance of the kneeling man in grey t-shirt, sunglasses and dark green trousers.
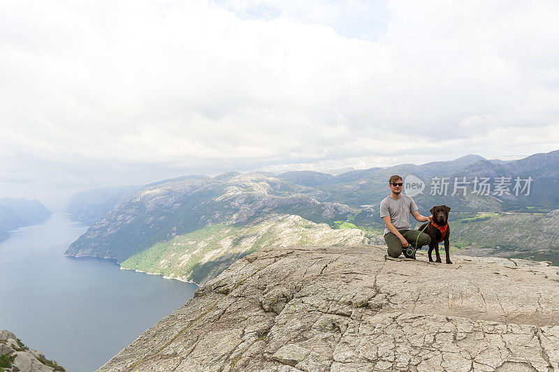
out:
M389 247L389 255L398 258L402 254L402 248L407 248L410 243L415 244L417 239L417 247L426 246L430 243L431 238L425 232L411 230L409 228L409 214L419 222L431 222L433 216L422 216L414 200L408 195L402 195L402 177L397 174L389 179L389 187L392 193L380 202L380 216L384 220L384 240ZM419 238L418 238L419 235ZM408 256L407 258L415 258Z

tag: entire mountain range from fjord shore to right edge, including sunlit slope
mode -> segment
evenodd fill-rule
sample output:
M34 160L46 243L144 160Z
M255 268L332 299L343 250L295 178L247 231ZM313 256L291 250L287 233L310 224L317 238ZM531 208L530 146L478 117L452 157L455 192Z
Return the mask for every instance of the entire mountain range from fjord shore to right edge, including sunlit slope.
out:
M452 208L451 221L480 211L547 213L559 209L559 151L518 161L467 155L453 161L338 175L295 171L277 176L269 172L184 176L155 182L129 195L133 190L116 188L104 189L101 196L95 191L73 198L81 200L75 202L80 205L75 216L91 216L90 223L98 219L66 255L111 258L129 269L200 283L261 246L312 245L320 235L328 237L321 244L332 245L348 234L351 239L376 243L382 239L379 231L384 225L378 206L389 194L392 174L405 179L412 175L423 182L423 192L414 196L421 214L428 215L434 205L447 204ZM487 178L490 192L479 192L476 177ZM516 178L523 186L531 179L529 193L524 189L515 194ZM451 195L455 179L467 183L457 184L463 188ZM445 193L437 191L437 180L448 183ZM508 193L498 192L498 184L507 186L503 181L509 182ZM105 210L108 213L101 216ZM291 221L291 225L280 223L283 228L279 228L270 221ZM314 227L321 223L326 230Z

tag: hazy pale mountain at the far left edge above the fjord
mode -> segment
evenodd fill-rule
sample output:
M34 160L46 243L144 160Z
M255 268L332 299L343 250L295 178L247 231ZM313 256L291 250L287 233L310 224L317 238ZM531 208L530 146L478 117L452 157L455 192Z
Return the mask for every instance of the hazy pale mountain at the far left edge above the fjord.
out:
M43 223L51 214L38 200L0 198L0 241L8 239L12 230Z

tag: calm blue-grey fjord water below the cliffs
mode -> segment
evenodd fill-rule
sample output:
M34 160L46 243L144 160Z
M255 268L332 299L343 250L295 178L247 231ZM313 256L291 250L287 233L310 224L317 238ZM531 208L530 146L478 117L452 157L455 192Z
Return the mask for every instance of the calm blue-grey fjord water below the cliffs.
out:
M108 260L65 257L86 230L53 214L0 243L0 329L73 372L98 369L197 288Z

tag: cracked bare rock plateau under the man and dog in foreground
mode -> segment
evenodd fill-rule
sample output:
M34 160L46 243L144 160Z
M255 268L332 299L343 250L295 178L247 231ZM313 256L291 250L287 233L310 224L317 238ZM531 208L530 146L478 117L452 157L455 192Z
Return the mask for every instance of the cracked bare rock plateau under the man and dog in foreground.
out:
M262 248L100 371L556 371L559 268Z

